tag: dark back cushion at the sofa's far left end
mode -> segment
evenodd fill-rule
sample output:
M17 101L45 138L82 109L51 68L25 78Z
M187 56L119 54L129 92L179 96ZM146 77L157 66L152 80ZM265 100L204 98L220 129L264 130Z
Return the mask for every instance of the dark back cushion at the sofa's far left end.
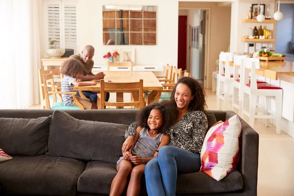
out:
M36 156L48 151L51 116L37 119L0 118L0 148L9 155Z

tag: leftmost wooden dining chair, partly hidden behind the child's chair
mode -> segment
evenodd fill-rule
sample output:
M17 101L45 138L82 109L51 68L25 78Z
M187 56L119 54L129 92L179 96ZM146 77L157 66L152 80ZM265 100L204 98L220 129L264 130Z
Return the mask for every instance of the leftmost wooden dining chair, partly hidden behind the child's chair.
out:
M44 104L44 101L45 101L45 92L44 92L43 74L49 74L49 73L52 73L53 75L59 75L60 74L60 77L62 79L62 76L61 76L61 73L60 73L60 70L59 69L56 69L56 70L41 70L41 69L39 69L38 70L39 90L40 90L40 102L41 102L41 108L42 109L45 109L45 104ZM51 87L51 84L48 84L47 86L48 87ZM56 90L60 90L61 89L61 84L57 84L57 85L54 84L54 87L55 87ZM51 100L52 96L49 97L49 98Z

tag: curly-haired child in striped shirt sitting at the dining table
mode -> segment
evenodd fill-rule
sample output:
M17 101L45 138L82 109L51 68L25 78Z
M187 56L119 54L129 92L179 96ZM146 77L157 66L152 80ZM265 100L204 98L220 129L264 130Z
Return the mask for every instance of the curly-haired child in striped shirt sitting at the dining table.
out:
M68 59L64 61L60 67L60 73L64 75L61 80L61 91L62 92L74 92L73 86L92 86L96 85L97 82L81 82L80 79L75 79L79 75L83 75L83 66L74 59ZM62 94L62 100L65 106L76 106L76 103L73 100L73 95ZM85 109L97 109L94 102L92 103L88 98L78 98L79 102L83 104Z

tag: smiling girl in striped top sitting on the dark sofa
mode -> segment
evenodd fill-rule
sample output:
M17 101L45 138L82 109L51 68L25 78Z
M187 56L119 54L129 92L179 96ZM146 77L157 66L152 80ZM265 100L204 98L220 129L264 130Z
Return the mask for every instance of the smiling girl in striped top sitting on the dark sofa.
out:
M138 111L134 141L136 145L123 154L117 162L117 175L111 183L110 196L120 196L126 185L127 196L139 196L141 190L141 177L148 161L158 155L160 147L169 145L170 136L165 134L174 123L177 110L170 101L152 103Z

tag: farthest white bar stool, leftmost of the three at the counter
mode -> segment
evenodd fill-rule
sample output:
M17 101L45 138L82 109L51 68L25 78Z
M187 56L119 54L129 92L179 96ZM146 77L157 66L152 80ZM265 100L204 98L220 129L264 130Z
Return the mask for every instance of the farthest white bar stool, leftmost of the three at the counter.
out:
M225 67L223 67L223 61L225 62ZM230 95L232 95L232 88L230 86L233 84L233 74L230 73L229 62L232 61L231 52L221 52L219 61L219 77L218 77L218 109L221 108L221 100L224 102L224 109L228 108L228 101L230 100ZM223 68L224 71L223 71Z

